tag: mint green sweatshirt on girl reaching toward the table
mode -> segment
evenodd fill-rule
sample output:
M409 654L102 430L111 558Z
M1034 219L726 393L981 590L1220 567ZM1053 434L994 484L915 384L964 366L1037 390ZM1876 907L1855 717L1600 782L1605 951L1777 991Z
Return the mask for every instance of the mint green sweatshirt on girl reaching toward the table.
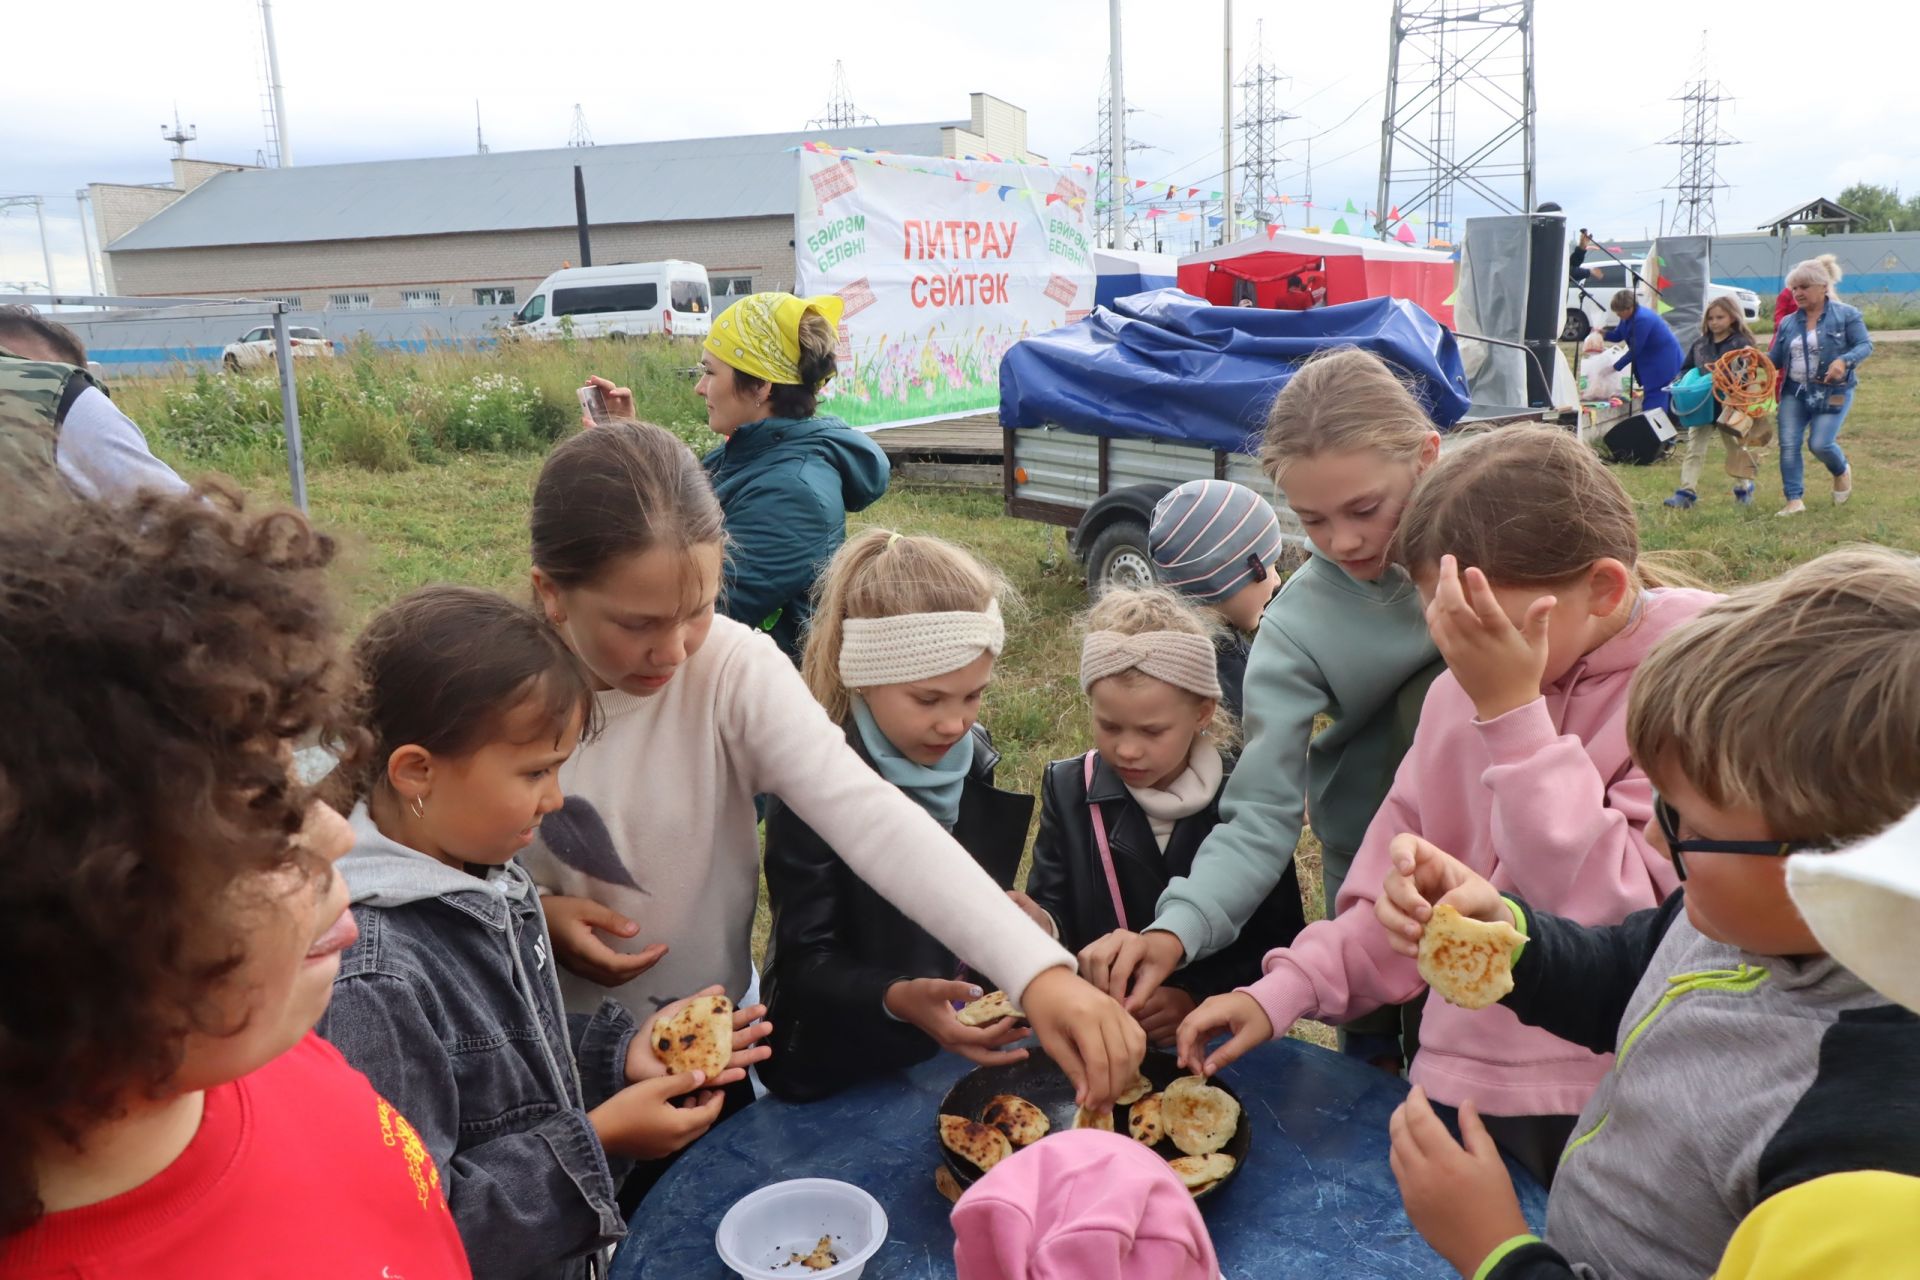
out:
M1175 935L1188 961L1231 944L1286 873L1309 810L1331 904L1413 741L1438 662L1404 570L1357 581L1315 549L1260 618L1246 664L1246 747L1221 823L1192 871L1160 894L1150 929ZM1321 714L1332 723L1313 737Z

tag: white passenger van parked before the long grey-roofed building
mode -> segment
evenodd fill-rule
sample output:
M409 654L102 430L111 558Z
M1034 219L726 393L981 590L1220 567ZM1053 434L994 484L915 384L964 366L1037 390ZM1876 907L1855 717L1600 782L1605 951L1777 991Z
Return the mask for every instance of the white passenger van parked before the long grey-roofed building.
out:
M712 326L712 296L699 263L620 263L568 267L540 282L513 317L520 338L559 338L570 319L574 338L691 334Z

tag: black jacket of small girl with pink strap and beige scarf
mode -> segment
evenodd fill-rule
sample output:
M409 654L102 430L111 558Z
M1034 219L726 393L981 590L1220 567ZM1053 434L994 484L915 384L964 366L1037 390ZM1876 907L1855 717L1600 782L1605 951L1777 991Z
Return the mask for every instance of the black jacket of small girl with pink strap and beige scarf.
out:
M1160 852L1154 829L1119 775L1106 760L1094 758L1092 787L1087 787L1085 758L1054 760L1041 783L1041 833L1033 841L1033 871L1027 875L1027 896L1044 908L1060 925L1060 942L1069 952L1100 938L1121 923L1114 917L1114 898L1106 887L1106 867L1092 837L1092 810L1100 804L1106 818L1106 839L1114 850L1114 875L1119 879L1119 898L1127 908L1127 929L1146 929L1162 890L1175 875L1192 869L1200 842L1219 825L1219 794L1192 818L1173 823L1167 852ZM1229 764L1231 768L1231 764ZM1225 779L1221 779L1225 791ZM1260 958L1275 946L1286 946L1306 927L1300 908L1300 877L1292 862L1286 875L1260 904L1240 936L1227 950L1177 969L1167 986L1185 990L1194 1000L1206 1000L1246 986L1260 977Z

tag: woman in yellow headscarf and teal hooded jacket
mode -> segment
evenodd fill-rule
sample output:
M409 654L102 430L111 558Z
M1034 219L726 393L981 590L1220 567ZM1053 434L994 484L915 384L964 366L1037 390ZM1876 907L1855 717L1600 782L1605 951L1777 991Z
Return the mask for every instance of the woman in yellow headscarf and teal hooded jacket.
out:
M724 443L703 459L726 514L720 608L795 662L814 578L847 537L847 512L887 491L887 455L818 413L833 378L841 299L751 294L714 317L695 391Z

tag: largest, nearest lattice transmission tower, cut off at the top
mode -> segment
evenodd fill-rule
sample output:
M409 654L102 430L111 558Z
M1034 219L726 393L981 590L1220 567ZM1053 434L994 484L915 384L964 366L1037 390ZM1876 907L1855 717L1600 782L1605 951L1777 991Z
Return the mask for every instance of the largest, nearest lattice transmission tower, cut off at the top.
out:
M1532 0L1394 0L1373 226L1398 209L1459 240L1459 198L1534 207Z

